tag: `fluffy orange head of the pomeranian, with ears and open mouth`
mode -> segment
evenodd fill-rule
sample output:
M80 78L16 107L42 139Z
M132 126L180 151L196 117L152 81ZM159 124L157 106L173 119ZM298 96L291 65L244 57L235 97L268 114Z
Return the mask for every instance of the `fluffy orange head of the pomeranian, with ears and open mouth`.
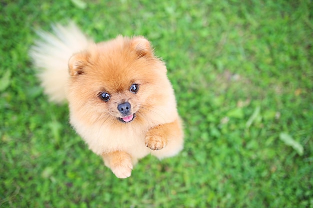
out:
M163 62L142 37L90 46L70 58L69 73L70 108L89 122L143 122L170 90Z

